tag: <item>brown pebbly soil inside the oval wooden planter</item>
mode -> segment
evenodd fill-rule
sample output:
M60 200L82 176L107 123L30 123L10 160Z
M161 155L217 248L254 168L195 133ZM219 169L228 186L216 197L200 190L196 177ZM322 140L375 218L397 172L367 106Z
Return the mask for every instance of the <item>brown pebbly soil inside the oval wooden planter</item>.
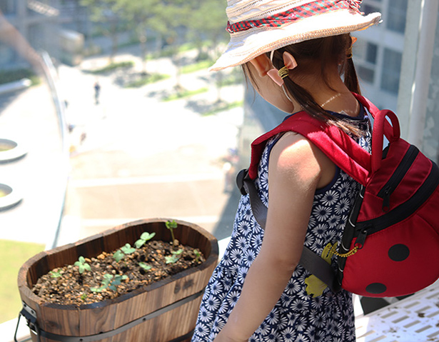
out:
M85 258L91 271L83 273L79 273L79 266L74 265L55 268L41 276L32 291L50 303L81 306L116 298L205 261L202 254L196 256L194 248L183 246L177 240L174 243L175 248L168 242L148 241L118 262L113 258L116 251L101 253L96 258ZM178 260L175 263L166 263L165 257L172 256L171 251L180 249L183 251L179 254ZM145 271L139 263L146 263L152 267ZM91 288L99 288L102 285L105 274L125 275L127 278L121 281L120 285L116 285L115 291L111 288L105 288L100 292L91 291Z

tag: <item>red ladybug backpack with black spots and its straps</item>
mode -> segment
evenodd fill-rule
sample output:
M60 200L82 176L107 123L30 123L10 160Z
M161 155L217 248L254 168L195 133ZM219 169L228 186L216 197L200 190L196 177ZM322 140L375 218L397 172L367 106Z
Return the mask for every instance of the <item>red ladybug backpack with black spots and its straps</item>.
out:
M238 188L249 194L253 215L264 228L268 209L253 179L266 141L285 131L305 136L361 186L338 251L333 251L338 271L306 247L301 265L335 292L344 288L368 297L415 293L439 278L439 169L400 138L392 111L380 111L354 95L374 118L371 154L338 127L300 112L253 141L251 166L238 174ZM384 151L383 136L389 141Z

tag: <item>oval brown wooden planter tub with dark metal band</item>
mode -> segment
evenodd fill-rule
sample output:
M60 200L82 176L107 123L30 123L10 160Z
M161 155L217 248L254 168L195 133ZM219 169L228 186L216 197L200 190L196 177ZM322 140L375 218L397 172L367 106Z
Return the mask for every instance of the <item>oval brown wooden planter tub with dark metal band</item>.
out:
M118 298L80 307L45 303L31 292L38 278L53 268L73 264L79 256L96 257L125 243L133 244L144 231L156 233L153 240L171 241L166 221L157 218L126 223L26 261L19 271L18 285L24 305L21 313L31 327L32 341L188 341L203 288L218 261L216 238L192 223L176 221L174 234L183 245L198 248L206 256L206 262L197 267Z

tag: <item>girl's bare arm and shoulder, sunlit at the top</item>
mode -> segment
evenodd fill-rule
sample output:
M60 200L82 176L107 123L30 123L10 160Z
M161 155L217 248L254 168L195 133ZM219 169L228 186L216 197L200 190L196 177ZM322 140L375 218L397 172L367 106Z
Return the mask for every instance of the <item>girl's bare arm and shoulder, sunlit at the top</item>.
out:
M281 297L301 258L316 188L335 172L331 165L323 152L299 134L284 134L273 147L268 166L270 205L261 251L215 342L248 341Z

